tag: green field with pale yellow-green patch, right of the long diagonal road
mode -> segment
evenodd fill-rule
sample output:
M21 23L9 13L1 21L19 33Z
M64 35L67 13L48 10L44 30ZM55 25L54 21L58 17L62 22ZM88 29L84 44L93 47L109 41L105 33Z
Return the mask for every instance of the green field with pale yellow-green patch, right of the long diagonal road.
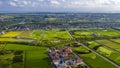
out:
M96 52L106 56L117 64L120 64L120 53L111 50L110 48L105 47L104 45L98 44L96 42L92 42L89 45L90 48L96 50Z

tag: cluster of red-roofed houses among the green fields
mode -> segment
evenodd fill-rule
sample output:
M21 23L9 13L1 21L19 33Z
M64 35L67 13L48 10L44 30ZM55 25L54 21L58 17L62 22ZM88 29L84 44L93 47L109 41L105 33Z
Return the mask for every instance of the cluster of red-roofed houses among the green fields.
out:
M49 48L48 55L56 68L89 68L70 46L63 48Z

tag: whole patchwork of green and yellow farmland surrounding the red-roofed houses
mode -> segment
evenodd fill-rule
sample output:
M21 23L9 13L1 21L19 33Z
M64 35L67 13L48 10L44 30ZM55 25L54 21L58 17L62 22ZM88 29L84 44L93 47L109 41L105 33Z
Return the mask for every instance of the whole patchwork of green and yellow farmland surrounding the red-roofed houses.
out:
M81 45L84 44L84 45ZM0 68L49 68L48 47L70 44L91 68L120 66L120 32L113 29L71 28L0 33ZM106 57L99 56L95 52Z

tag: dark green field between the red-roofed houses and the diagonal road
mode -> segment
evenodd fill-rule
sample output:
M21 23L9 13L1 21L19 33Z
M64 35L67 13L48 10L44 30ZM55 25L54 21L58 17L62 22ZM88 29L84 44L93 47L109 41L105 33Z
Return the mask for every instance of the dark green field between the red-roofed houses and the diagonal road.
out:
M74 51L84 59L84 61L89 64L91 68L116 68L114 65L99 57L95 53L89 52L86 48L80 46L73 48ZM82 52L82 53L79 53Z

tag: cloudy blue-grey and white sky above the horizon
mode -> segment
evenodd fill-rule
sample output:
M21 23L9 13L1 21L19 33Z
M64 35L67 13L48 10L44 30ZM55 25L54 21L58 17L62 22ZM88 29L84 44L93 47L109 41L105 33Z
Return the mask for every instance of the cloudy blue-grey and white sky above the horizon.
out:
M0 0L0 12L120 13L120 0Z

